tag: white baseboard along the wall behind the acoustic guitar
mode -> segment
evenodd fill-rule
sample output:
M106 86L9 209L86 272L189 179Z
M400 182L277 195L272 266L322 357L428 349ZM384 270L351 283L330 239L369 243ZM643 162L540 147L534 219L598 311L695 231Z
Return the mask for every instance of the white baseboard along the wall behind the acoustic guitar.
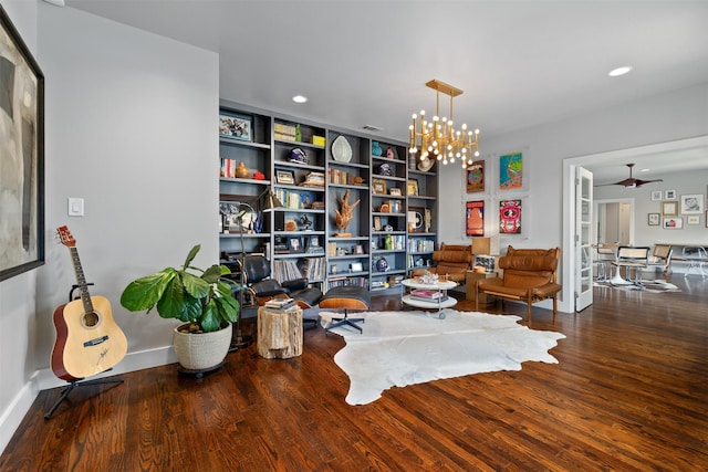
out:
M121 374L132 373L152 367L164 366L177 361L175 349L165 346L156 349L142 350L139 353L128 353L125 358L112 370L100 374L91 379L111 377ZM4 451L12 439L15 430L24 419L24 416L32 407L34 399L41 390L64 387L66 381L56 378L51 369L35 370L30 380L14 396L8 408L0 412L0 454ZM59 392L56 395L59 399Z

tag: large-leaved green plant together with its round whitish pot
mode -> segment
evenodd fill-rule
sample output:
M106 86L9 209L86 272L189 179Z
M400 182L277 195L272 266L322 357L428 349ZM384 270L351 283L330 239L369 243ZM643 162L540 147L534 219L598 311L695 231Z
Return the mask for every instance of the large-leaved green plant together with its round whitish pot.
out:
M223 279L231 273L227 266L214 264L205 271L190 265L200 249L197 244L189 251L181 269L167 268L131 282L121 305L147 313L157 307L163 318L184 322L174 331L177 360L185 369L206 371L229 352L239 302L231 295L233 282Z

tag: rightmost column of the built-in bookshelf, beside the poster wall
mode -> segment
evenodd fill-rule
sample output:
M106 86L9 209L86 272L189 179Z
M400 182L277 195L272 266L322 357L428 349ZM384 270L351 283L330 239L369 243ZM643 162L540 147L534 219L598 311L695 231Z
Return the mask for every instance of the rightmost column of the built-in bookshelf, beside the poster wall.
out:
M438 242L438 176L436 167L428 171L408 169L407 223L409 270L427 269Z

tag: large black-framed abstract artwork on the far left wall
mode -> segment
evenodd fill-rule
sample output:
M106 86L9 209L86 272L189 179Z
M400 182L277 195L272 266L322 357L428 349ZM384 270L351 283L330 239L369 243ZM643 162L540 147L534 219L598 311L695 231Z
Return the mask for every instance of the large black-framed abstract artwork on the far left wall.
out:
M17 143L0 156L0 188L17 196L0 203L2 281L44 264L44 74L2 6L0 35L0 141Z

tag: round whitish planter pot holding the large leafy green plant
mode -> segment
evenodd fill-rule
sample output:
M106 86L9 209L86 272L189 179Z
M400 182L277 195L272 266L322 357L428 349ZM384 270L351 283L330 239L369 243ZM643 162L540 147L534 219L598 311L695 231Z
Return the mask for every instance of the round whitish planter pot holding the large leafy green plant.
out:
M189 370L210 370L217 367L231 346L232 325L210 333L181 333L175 328L173 344L179 365Z

